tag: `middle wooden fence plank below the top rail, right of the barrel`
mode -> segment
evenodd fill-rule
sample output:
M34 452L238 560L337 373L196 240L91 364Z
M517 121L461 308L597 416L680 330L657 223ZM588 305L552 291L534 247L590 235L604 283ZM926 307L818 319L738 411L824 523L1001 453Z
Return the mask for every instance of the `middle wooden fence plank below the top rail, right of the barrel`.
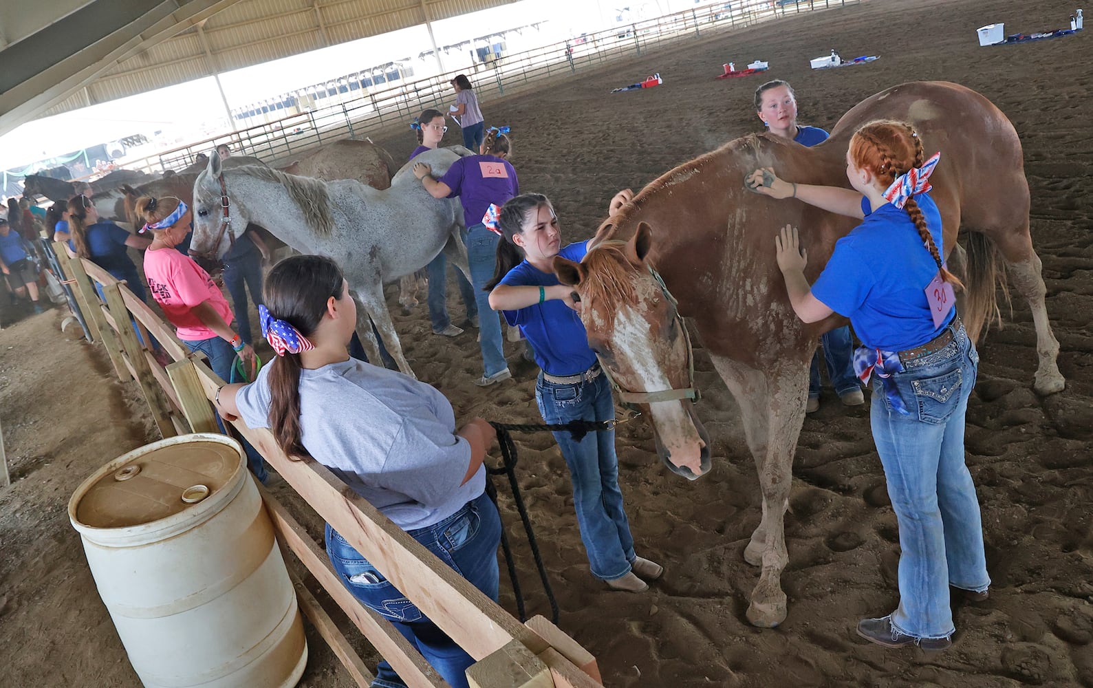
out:
M255 483L258 485L257 481ZM387 619L361 604L361 600L342 585L341 579L330 565L326 553L319 549L315 540L296 523L287 510L262 486L258 486L258 491L261 492L266 510L273 520L278 538L282 539L307 567L312 575L342 608L342 611L364 633L372 646L390 662L399 677L410 688L450 688L447 681L436 673L436 669L421 656L418 649L402 637L402 633L396 630Z

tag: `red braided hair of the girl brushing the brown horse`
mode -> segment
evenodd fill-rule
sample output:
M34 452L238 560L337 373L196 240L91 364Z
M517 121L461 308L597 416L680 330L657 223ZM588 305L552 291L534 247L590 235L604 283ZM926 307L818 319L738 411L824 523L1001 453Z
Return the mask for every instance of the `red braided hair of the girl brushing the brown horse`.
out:
M850 139L850 160L856 166L869 170L881 185L888 187L912 167L921 167L926 162L926 153L914 127L905 121L882 119L871 121L855 132ZM941 254L915 199L908 198L903 209L915 223L918 236L938 265L941 279L954 287L963 287L956 276L942 266Z

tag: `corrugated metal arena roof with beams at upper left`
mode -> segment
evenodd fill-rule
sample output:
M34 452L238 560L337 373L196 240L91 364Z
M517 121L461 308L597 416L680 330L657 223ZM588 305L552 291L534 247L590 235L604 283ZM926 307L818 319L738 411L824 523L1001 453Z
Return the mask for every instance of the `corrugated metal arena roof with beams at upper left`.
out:
M7 0L0 135L37 117L514 1Z

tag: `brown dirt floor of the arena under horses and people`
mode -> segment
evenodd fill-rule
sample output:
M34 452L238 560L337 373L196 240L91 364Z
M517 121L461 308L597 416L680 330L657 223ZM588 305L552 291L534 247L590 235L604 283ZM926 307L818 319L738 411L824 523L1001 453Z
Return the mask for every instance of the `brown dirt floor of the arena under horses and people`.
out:
M1032 390L1034 334L1026 305L980 345L979 382L967 415L967 463L983 504L991 597L957 604L954 646L926 655L857 638L859 617L897 599L895 517L865 407L846 410L825 390L808 417L794 470L783 584L789 616L775 630L744 618L756 570L742 559L760 497L736 404L703 353L700 416L714 441L713 471L695 482L654 456L649 427L619 433L624 494L639 551L665 579L644 595L609 593L587 571L568 476L549 435L520 438L520 481L562 607L561 626L599 660L608 686L804 687L1093 686L1093 34L980 48L976 27L1010 33L1058 28L1062 0L871 0L757 27L687 39L677 47L484 102L489 124L513 128L525 190L549 195L565 238L586 238L621 187L756 131L752 92L767 77L797 89L800 121L831 128L870 94L910 80L951 80L991 98L1013 121L1033 193L1032 231L1044 260L1048 311L1062 346L1065 392ZM875 62L813 72L832 48ZM768 60L768 74L717 81L721 63ZM610 89L660 72L653 90ZM968 123L969 126L972 123ZM457 142L449 131L446 143ZM403 129L375 137L399 160ZM456 291L450 290L453 293ZM453 299L454 319L462 306ZM21 317L22 316L22 317ZM21 317L21 319L19 319ZM119 385L104 351L60 333L61 315L4 312L0 419L14 485L0 489L0 686L137 686L103 607L66 504L95 467L152 435L134 388ZM17 320L11 324L12 320ZM482 392L474 333L430 333L424 304L397 316L419 376L457 413L538 420L533 370ZM515 345L509 350L518 357ZM504 489L502 490L504 492ZM280 495L306 514L283 483ZM516 532L510 501L504 518ZM321 523L303 516L317 537ZM530 552L518 546L532 614L549 614ZM503 581L502 603L515 610ZM363 649L355 631L354 642ZM302 686L351 685L309 632Z

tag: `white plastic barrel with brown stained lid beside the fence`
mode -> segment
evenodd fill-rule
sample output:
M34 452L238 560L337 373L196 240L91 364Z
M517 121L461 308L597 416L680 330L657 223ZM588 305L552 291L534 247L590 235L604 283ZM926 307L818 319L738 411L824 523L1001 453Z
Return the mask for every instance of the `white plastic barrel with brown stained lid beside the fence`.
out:
M273 524L234 440L154 442L95 471L69 520L146 688L290 688L307 643Z

